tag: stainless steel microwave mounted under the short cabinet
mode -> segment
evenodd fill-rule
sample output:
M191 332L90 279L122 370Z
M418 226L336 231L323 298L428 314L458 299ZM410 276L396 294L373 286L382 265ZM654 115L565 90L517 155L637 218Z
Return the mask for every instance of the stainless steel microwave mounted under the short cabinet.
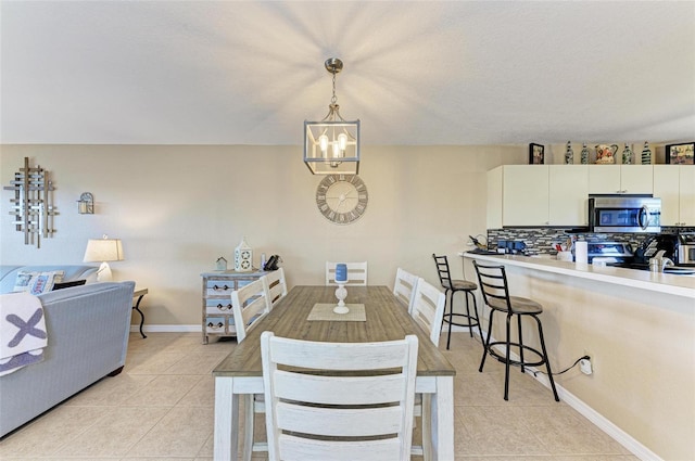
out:
M661 232L661 199L594 196L589 199L591 232Z

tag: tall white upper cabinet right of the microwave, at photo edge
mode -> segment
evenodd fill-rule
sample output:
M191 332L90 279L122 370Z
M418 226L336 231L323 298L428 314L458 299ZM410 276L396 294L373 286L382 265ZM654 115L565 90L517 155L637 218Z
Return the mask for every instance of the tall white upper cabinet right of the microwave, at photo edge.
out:
M654 196L661 199L661 226L695 226L695 167L655 165Z

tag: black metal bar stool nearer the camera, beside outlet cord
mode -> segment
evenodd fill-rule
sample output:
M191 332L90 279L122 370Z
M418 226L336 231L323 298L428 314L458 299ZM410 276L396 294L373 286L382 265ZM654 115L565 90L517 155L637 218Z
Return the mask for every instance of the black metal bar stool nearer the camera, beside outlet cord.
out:
M490 320L488 322L488 337L483 343L482 360L480 361L479 372L482 372L482 368L485 364L485 357L490 354L498 361L505 364L504 375L504 399L509 400L509 366L520 366L521 373L526 372L526 367L538 367L545 363L547 370L547 377L551 381L551 387L553 388L553 395L555 401L560 401L555 389L555 381L553 381L553 373L551 372L551 362L547 359L547 351L545 350L545 341L543 340L543 326L539 315L543 312L543 306L539 303L519 296L509 296L509 285L507 283L507 273L504 266L486 266L478 264L473 260L473 267L478 274L478 283L480 284L480 291L482 292L482 298L490 307ZM490 334L492 332L492 318L495 312L504 312L507 315L506 336L504 341L490 342ZM517 324L519 330L518 342L511 341L511 318L517 316ZM521 317L529 316L535 320L539 326L539 340L541 343L541 350L523 344L523 336L521 335ZM494 346L504 345L504 355L497 353ZM509 357L511 347L515 347L519 351L519 360L513 360ZM523 353L529 351L538 357L536 361L526 361L523 359Z

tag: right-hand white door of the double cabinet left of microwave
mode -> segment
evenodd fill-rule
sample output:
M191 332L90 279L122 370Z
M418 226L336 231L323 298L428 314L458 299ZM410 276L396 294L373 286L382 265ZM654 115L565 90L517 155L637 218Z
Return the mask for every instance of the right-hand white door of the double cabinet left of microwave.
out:
M551 226L586 226L587 165L549 165L548 220Z

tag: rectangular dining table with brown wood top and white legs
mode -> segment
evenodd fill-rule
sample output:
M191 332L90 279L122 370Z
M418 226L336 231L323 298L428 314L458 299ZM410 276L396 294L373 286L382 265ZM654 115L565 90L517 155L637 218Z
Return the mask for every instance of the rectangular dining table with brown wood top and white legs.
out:
M236 459L239 443L239 396L263 394L261 333L332 343L419 341L415 392L431 394L432 459L454 459L455 368L432 344L387 286L350 286L345 303L364 305L365 321L308 320L316 304L337 303L336 286L294 286L245 340L213 370L215 379L216 461Z

